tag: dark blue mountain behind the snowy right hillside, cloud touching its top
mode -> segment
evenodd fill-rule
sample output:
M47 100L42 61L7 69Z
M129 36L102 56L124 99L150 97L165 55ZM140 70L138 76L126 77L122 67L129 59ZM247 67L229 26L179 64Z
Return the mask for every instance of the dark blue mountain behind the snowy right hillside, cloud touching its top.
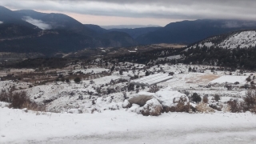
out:
M172 22L165 27L136 38L141 44L198 42L204 38L225 34L234 30L256 28L255 21L242 20L196 20Z

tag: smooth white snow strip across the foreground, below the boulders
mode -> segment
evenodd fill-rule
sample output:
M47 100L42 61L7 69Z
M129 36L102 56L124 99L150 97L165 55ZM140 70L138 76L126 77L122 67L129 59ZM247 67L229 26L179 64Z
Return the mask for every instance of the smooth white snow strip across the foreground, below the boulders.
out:
M254 143L256 115L125 110L97 114L36 114L0 108L0 143Z

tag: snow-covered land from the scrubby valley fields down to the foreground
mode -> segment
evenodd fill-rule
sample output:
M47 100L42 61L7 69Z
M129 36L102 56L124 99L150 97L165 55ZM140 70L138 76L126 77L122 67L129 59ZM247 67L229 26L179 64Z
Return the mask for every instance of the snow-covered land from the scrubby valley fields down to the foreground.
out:
M182 98L186 99L187 104L189 97L194 93L201 98L208 95L208 106L217 103L213 100L215 94L220 96L219 106L226 106L226 102L234 98L242 101L247 91L245 88L237 86L227 90L222 84L226 82L239 82L240 86L248 84L246 78L250 74L253 74L251 75L253 78L254 73L244 72L243 76L238 76L233 72L232 75L227 75L230 71L217 70L217 66L165 64L147 68L150 76L145 77L144 66L129 62L121 63L116 68L124 69L122 74L119 70L110 73L109 69L97 66L89 69L78 66L78 69L72 70L73 74L81 71L88 75L79 83L70 79L70 82L48 82L30 87L34 84L33 81L30 83L0 81L0 90L9 90L10 87L15 86L17 91L26 91L33 102L45 104L47 111L58 112L26 112L9 109L5 107L6 103L1 102L0 143L256 142L256 115L250 112L225 111L224 113L222 109L206 112L208 114L191 111L190 113L162 113L161 111L156 117L142 115L142 110L146 109L146 104L149 104L147 102L153 102L154 106L158 104L163 107L177 106L177 102ZM190 67L195 72L189 72ZM214 71L211 70L213 67ZM68 74L69 71L62 69L60 72ZM97 76L103 71L108 74ZM174 75L169 76L170 72ZM158 91L149 93L150 86L136 85L133 87L134 90L128 90L130 82L137 81L139 78L157 79L154 76L159 74L170 78L165 78L164 82L159 81ZM135 75L138 79L132 79ZM55 75L56 78L57 76ZM255 80L252 81L255 82ZM214 85L208 87L209 84ZM182 94L184 90L190 94ZM148 99L143 105L132 103L131 99L136 95L143 98L152 96L152 99ZM190 102L190 106L196 107L197 103Z

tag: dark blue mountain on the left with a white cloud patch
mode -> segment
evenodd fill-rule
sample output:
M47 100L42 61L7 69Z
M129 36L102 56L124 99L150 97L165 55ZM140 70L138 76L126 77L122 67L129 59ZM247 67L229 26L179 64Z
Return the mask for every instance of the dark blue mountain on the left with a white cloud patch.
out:
M134 46L129 34L83 25L65 14L8 10L0 6L0 52L52 56L96 47Z

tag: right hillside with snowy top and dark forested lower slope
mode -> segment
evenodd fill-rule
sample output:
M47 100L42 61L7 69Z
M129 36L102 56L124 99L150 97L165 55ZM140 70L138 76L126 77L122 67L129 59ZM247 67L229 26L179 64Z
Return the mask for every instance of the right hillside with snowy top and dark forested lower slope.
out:
M239 30L196 42L183 50L182 62L256 70L256 30Z

